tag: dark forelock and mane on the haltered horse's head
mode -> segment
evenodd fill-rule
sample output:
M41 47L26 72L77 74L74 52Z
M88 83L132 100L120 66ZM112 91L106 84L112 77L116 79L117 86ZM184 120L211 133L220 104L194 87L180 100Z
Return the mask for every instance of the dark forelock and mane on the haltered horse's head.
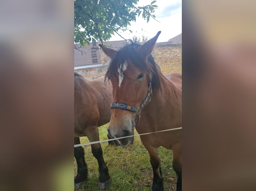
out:
M126 44L123 48L121 48L115 55L115 57L111 60L107 73L105 75L105 82L107 79L115 76L117 77L117 71L120 68L121 71L123 69L123 64L125 60L130 60L131 63L138 68L141 72L152 74L152 88L154 90L160 90L160 80L157 73L159 70L159 66L155 63L154 58L150 54L147 57L147 61L137 52L136 48L140 47L140 44L133 43ZM121 66L121 67L120 67ZM122 71L123 72L123 71ZM149 75L148 75L149 76Z

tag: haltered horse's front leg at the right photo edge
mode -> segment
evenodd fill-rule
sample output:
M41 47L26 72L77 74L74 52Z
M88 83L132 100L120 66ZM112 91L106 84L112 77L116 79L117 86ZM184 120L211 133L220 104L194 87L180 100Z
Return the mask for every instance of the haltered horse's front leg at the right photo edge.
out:
M182 159L181 159L181 140L176 142L172 147L173 161L172 167L177 174L177 185L176 191L181 191L182 189Z

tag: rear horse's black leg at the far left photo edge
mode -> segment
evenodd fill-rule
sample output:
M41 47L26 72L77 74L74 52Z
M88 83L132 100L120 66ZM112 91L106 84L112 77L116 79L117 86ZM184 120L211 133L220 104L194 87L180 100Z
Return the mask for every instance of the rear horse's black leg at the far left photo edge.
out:
M75 144L80 144L79 137L75 137L74 142ZM77 161L77 176L74 181L75 187L78 188L81 185L81 183L87 179L88 170L84 157L85 153L82 146L75 147L74 151L75 158Z

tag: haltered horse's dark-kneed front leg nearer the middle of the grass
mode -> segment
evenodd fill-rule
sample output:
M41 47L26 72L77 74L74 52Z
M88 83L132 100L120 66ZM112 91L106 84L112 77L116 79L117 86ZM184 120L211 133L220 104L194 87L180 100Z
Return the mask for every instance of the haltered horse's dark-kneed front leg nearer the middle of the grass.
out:
M150 156L150 163L153 168L153 185L152 191L163 191L162 171L160 169L160 158L157 153L157 148L151 145L144 145Z

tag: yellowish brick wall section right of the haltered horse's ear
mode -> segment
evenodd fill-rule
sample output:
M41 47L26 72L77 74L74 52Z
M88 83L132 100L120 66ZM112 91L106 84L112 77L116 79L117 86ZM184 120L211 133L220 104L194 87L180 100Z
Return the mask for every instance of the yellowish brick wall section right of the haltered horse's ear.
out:
M182 73L182 45L155 46L152 51L155 62L163 74L172 72Z

